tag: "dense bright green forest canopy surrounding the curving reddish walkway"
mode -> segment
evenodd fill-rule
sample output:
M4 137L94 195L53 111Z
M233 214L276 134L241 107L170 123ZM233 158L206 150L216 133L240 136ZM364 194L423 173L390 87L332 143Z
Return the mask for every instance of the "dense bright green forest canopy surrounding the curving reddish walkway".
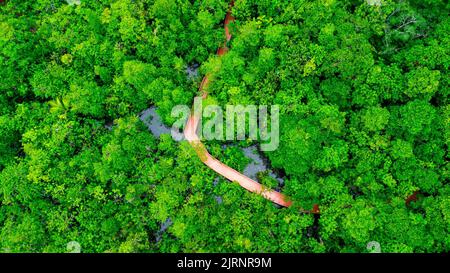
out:
M221 58L226 0L80 2L0 4L2 252L450 250L448 1L236 0ZM280 105L294 206L138 119L192 103L192 64L222 105Z

